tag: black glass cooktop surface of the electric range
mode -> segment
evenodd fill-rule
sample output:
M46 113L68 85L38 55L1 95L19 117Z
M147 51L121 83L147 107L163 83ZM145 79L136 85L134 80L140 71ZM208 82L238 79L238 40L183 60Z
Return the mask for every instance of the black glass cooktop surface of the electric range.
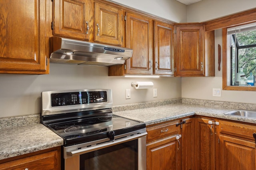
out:
M47 123L44 125L64 139L64 146L109 138L110 131L114 131L116 136L146 127L140 121L112 115L112 113L101 117L77 117L76 119L60 120L46 121Z

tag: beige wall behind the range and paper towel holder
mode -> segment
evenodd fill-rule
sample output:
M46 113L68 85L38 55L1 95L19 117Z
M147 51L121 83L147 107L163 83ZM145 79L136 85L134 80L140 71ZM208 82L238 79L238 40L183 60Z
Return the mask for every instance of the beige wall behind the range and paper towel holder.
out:
M152 81L158 89L135 90L131 82ZM41 112L41 92L110 88L113 104L130 104L181 97L181 78L125 78L108 76L108 67L50 64L50 74L22 75L0 74L0 117L27 115ZM125 98L125 90L131 89L131 99Z

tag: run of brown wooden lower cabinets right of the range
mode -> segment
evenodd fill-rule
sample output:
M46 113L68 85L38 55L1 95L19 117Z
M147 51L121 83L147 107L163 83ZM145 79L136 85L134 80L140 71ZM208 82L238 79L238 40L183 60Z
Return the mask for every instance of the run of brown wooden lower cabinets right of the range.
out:
M252 123L196 115L147 131L147 170L256 170Z

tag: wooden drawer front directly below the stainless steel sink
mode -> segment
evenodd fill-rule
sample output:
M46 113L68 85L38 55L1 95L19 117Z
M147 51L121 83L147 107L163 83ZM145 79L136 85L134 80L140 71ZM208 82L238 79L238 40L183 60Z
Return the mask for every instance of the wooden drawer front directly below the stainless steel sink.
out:
M254 140L252 134L256 133L256 126L222 120L219 122L220 133Z

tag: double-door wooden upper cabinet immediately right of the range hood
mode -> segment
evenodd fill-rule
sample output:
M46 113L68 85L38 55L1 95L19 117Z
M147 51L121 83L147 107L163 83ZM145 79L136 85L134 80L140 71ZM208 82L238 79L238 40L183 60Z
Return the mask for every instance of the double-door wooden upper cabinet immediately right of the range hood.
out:
M127 12L126 47L133 49L132 58L128 59L125 65L109 67L109 76L125 74L173 76L173 30L171 24L152 21L145 16Z

